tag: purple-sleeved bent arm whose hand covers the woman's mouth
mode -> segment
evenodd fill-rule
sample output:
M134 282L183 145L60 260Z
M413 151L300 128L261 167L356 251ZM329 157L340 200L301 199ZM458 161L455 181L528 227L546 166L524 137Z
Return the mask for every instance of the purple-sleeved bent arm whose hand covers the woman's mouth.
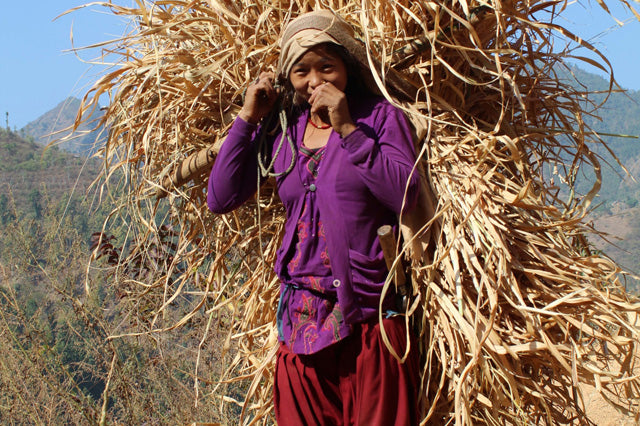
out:
M365 185L382 204L396 214L415 206L420 177L413 170L416 155L411 131L400 110L385 102L375 112L373 129L358 125L342 139L341 145Z

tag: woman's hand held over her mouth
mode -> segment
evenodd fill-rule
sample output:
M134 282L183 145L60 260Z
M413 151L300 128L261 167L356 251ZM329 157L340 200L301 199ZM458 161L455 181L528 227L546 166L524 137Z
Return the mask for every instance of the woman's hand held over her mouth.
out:
M346 137L356 129L349 113L347 96L336 86L326 81L316 87L309 97L311 115L318 115L328 122L341 137Z

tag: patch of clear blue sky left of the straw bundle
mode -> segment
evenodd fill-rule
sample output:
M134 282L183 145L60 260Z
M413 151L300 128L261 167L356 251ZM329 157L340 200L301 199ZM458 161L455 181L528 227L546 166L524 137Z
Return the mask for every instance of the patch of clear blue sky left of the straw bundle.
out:
M0 124L18 129L69 96L80 97L97 80L104 67L82 62L99 53L71 48L114 38L126 30L121 18L97 6L63 16L86 4L83 0L2 0L0 8ZM130 2L129 2L130 3ZM119 4L127 4L124 1Z

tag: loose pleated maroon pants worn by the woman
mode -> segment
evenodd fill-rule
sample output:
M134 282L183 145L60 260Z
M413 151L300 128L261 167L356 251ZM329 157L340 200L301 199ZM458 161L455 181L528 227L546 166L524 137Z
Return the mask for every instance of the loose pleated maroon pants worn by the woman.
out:
M406 348L403 318L384 319L399 355ZM280 426L416 425L418 355L400 364L389 353L377 321L360 324L348 338L313 355L280 345L274 405Z

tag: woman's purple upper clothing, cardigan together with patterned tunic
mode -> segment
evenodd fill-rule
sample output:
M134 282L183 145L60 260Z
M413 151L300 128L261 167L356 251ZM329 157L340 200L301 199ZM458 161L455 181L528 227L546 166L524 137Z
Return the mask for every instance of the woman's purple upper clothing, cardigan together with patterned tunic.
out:
M387 269L376 230L396 225L397 215L417 199L415 153L402 113L380 98L350 100L357 129L345 138L332 132L322 159L302 140L308 109L287 129L297 144L294 169L276 179L287 222L275 271L280 277L280 340L308 354L343 339L351 325L377 316ZM216 213L240 206L256 191L255 141L260 129L234 122L209 178L207 202ZM275 153L282 135L272 139ZM293 153L285 143L274 171L283 172ZM393 297L382 309L393 307Z

